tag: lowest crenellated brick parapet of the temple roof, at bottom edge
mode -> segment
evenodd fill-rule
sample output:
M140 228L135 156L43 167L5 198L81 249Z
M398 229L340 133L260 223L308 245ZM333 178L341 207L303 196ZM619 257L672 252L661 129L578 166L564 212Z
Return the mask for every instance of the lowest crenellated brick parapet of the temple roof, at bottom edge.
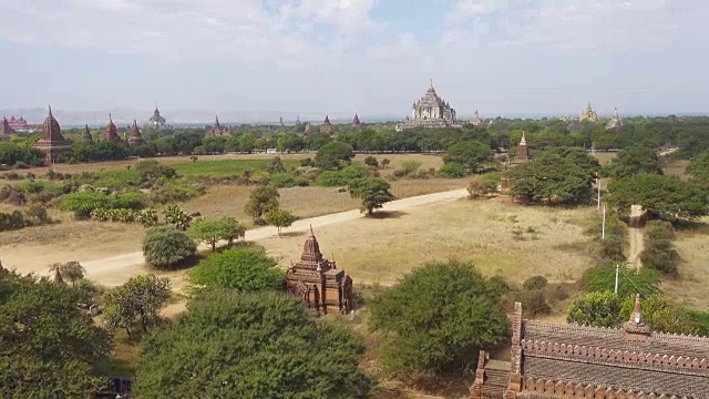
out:
M526 378L525 392L558 396L561 398L594 398L594 399L691 399L688 397L655 395L653 392L635 392L633 390L613 389L594 385ZM534 397L534 396L532 396Z

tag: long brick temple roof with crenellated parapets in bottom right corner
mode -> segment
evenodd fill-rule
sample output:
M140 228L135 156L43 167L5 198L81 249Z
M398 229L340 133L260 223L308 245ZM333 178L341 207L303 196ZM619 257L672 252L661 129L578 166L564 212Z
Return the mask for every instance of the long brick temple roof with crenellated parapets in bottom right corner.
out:
M709 338L651 331L640 296L620 328L522 319L510 361L479 354L472 399L709 399Z

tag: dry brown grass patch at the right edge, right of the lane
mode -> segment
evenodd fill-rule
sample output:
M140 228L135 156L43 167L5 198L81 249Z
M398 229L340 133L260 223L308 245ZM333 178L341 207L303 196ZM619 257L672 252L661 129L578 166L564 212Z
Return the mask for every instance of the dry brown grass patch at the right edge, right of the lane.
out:
M680 232L675 245L682 262L679 264L679 277L667 279L662 289L677 304L696 310L709 308L709 217L696 232Z

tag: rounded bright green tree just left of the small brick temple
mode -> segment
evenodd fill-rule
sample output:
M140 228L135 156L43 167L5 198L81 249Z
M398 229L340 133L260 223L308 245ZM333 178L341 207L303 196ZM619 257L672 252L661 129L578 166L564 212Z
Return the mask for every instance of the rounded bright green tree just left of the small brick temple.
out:
M199 262L189 273L189 280L207 289L258 291L280 288L284 273L263 248L236 247Z

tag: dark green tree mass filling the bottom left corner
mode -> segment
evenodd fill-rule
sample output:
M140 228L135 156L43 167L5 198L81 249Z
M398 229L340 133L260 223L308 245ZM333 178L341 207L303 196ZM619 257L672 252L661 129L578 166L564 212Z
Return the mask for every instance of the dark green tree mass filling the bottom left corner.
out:
M111 336L76 307L86 298L47 278L0 272L0 397L85 398Z

